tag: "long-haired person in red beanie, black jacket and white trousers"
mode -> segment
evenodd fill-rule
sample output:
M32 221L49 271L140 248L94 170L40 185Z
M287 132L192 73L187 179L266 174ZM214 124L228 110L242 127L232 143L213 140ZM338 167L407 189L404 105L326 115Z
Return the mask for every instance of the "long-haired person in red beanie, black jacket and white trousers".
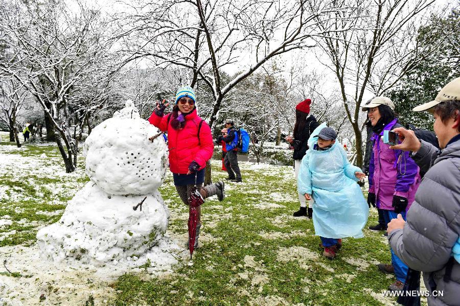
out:
M310 114L310 99L305 99L295 107L295 125L293 131L293 137L287 136L286 140L294 147L294 169L295 178L298 177L298 170L301 166L302 158L308 150L307 140L310 138L310 134L319 126L316 118ZM313 200L310 200L309 207L307 209L307 201L304 195L298 194L298 200L300 201L301 207L295 211L294 217L308 216L312 218L313 214Z

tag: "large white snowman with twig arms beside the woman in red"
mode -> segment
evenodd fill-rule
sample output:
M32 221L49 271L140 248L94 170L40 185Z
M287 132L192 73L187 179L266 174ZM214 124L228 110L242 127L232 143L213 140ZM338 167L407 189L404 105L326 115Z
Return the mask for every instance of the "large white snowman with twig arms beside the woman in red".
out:
M169 219L158 192L168 152L163 137L152 135L160 135L158 129L141 119L130 100L93 129L83 147L90 181L59 222L38 231L42 255L104 265L159 244Z

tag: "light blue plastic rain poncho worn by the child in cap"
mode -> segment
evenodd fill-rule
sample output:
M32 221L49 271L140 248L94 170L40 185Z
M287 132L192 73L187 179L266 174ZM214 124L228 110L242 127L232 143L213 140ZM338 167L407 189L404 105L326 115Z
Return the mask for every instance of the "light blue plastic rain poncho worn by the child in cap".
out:
M355 172L361 172L347 159L347 154L337 142L326 151L314 150L319 131L318 126L308 139L307 154L297 179L301 194L310 194L314 199L313 225L315 234L325 238L362 238L362 229L369 216L361 188L356 183Z

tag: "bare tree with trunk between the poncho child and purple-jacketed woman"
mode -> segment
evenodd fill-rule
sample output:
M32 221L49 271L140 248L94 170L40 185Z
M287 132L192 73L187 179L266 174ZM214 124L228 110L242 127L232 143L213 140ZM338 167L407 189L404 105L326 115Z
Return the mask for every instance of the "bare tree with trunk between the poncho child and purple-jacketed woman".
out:
M340 0L353 11L331 12L335 18L321 22L321 29L349 31L318 35L317 57L335 75L347 119L356 138L356 164L362 166L361 132L365 118L360 105L364 96L384 95L405 74L429 55L436 45L417 41L417 18L434 0ZM319 18L316 20L320 21ZM343 20L346 20L344 22ZM419 19L420 21L420 19ZM326 55L327 58L324 57Z

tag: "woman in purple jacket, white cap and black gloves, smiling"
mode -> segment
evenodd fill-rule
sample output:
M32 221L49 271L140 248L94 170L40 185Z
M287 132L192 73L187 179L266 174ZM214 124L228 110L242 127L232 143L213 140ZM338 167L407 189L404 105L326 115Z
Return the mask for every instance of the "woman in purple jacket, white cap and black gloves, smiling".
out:
M395 104L386 97L376 97L363 106L372 126L372 154L369 163L369 195L367 201L382 209L385 223L406 211L412 204L420 184L419 167L409 157L409 152L392 150L383 143L383 131L401 127L394 111ZM396 275L396 283L389 290L402 290L406 281L407 266L392 253L392 265L379 264L381 271Z

